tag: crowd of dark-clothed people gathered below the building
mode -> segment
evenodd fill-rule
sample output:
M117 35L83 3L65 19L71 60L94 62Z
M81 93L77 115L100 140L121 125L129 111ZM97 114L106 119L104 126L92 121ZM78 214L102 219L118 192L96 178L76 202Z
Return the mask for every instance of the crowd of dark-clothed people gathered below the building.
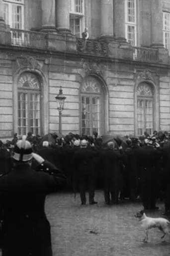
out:
M1 152L10 158L16 142L1 143ZM118 204L123 199L140 199L144 209L157 210L157 199L165 201L165 214L170 213L170 133L154 131L143 136L114 137L103 141L93 136L52 133L41 138L31 132L27 138L33 152L53 163L67 177L67 188L80 192L82 205L96 204L94 191L103 189L105 204ZM4 153L5 152L5 153ZM11 168L6 161L5 169Z

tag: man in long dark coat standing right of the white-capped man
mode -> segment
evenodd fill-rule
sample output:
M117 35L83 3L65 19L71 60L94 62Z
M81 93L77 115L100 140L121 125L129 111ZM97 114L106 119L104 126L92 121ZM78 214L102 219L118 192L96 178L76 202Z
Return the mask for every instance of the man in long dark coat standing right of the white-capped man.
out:
M106 204L118 204L121 189L122 174L120 164L123 156L114 150L114 143L108 142L107 149L101 152L101 165L103 170L104 200ZM111 195L111 200L110 200Z

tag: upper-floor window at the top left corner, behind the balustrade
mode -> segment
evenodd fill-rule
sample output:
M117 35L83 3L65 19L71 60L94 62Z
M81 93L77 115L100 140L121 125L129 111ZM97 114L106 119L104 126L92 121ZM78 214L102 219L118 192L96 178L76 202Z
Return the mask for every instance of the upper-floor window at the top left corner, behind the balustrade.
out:
M5 23L15 29L24 29L24 0L3 0Z

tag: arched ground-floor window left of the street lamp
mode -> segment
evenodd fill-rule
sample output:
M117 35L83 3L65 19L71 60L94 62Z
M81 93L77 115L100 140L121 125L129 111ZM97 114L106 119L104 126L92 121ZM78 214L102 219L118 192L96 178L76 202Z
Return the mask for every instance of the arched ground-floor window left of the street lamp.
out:
M31 72L18 80L18 135L40 134L40 82Z

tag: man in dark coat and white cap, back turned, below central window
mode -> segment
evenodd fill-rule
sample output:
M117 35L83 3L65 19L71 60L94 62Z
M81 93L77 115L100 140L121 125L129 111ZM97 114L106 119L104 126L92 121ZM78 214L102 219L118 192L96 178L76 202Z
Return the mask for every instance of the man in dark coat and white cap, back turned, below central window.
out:
M87 148L87 141L82 140L80 150L77 150L73 156L74 177L78 178L82 205L86 204L86 188L88 189L89 204L97 203L94 201L95 175L93 166L93 159L96 155L96 151Z

